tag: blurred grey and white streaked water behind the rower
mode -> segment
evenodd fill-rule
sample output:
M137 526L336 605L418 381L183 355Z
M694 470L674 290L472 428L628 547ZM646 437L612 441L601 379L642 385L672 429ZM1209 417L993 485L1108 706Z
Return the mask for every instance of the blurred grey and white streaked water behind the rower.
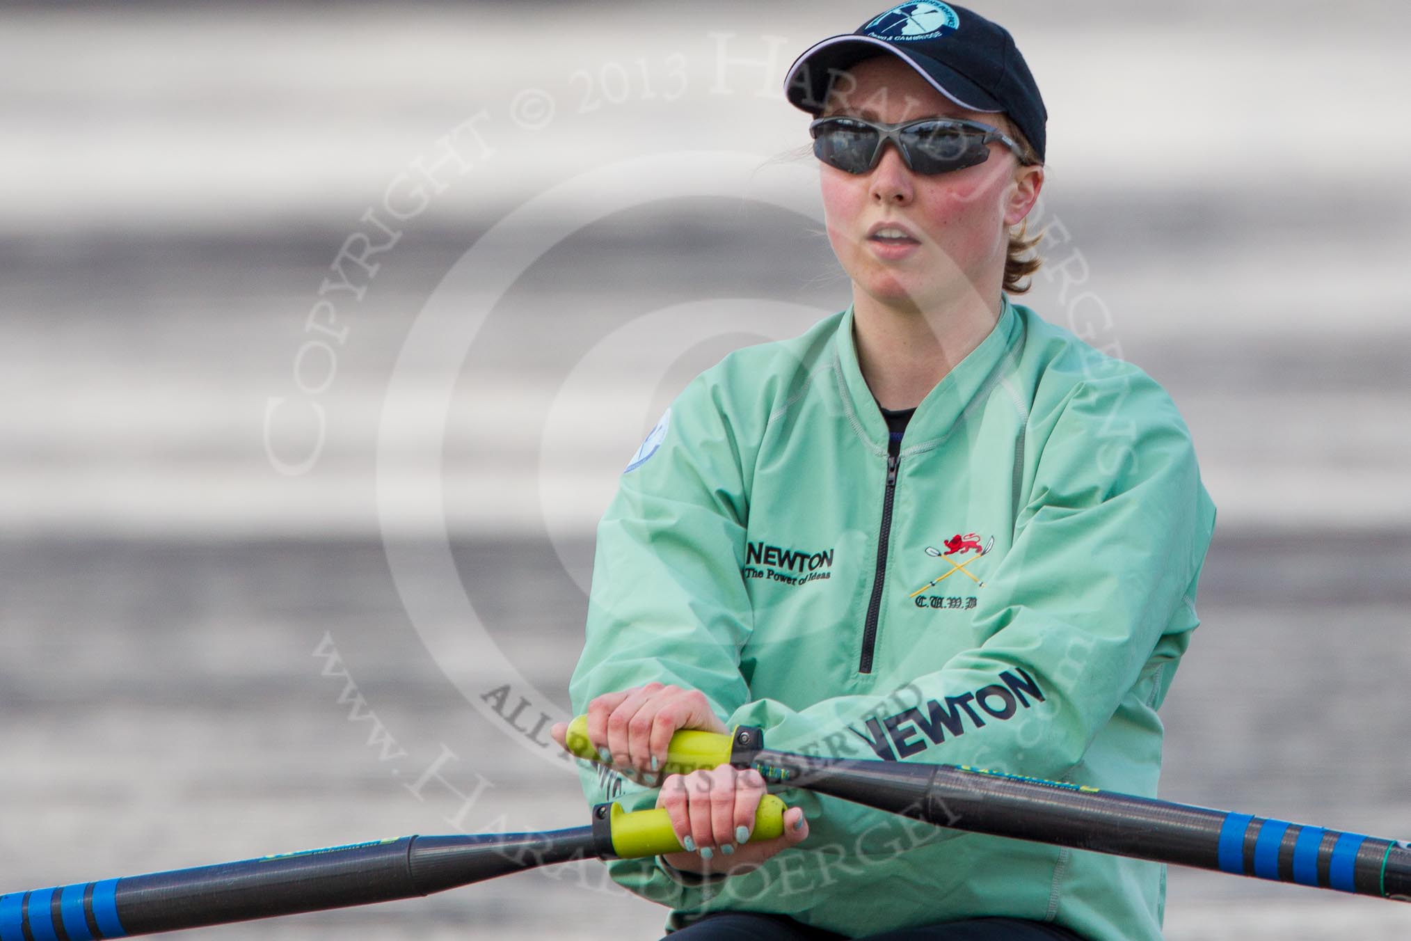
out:
M1411 17L983 11L1051 116L1027 303L1171 389L1221 506L1164 794L1411 835ZM581 822L483 697L531 700L525 731L566 708L641 433L724 351L845 305L776 89L869 13L6 8L0 889ZM584 865L219 931L660 917ZM1173 870L1167 925L1408 918Z

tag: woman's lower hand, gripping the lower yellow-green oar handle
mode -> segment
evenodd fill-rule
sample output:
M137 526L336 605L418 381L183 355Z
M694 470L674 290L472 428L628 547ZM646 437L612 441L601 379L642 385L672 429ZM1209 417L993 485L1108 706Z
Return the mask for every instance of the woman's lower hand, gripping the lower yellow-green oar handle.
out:
M742 772L721 765L714 770L672 775L662 783L656 806L666 808L672 830L687 851L662 858L683 872L738 876L758 869L780 849L803 842L809 837L809 822L799 807L785 811L782 837L745 842L755 828L755 811L763 796L765 779L753 769Z

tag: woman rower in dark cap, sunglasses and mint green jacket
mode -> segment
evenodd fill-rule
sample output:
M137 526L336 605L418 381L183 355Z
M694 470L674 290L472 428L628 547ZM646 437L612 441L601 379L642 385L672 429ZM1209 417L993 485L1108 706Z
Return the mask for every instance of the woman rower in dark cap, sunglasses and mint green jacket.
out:
M746 724L780 751L1154 796L1197 626L1213 506L1185 425L1010 300L1038 265L1046 110L1009 32L906 3L804 52L786 93L816 116L852 305L691 382L598 529L573 704L639 782L621 800L666 807L686 846L612 876L697 941L1160 938L1154 863L807 791L746 845L758 773L646 787L677 729Z

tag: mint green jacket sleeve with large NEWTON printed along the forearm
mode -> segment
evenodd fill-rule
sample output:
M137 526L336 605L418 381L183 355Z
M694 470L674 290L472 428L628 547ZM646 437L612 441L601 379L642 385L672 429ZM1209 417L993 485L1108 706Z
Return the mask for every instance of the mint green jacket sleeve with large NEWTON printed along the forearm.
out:
M848 742L859 758L1057 780L1139 680L1154 707L1170 680L1165 663L1197 624L1195 581L1213 528L1189 433L1165 392L1130 370L1075 384L1048 416L1031 419L1026 447L1026 497L1012 547L978 593L976 646L892 696L803 710L761 700L729 724L765 727L765 742L780 751L837 755L837 742ZM1030 708L993 721L974 694L1002 686L1003 674L1031 680L1043 698L1030 694ZM993 696L991 705L1007 705ZM964 734L947 735L944 721Z

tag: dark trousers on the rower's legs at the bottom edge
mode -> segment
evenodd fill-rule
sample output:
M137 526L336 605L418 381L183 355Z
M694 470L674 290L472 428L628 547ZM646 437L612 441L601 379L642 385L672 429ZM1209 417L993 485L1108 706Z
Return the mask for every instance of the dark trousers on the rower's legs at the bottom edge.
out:
M845 941L845 935L810 928L793 918L745 911L717 911L673 931L669 941ZM1072 931L1019 918L971 918L951 924L899 928L868 941L1082 941ZM666 941L666 940L663 940Z

